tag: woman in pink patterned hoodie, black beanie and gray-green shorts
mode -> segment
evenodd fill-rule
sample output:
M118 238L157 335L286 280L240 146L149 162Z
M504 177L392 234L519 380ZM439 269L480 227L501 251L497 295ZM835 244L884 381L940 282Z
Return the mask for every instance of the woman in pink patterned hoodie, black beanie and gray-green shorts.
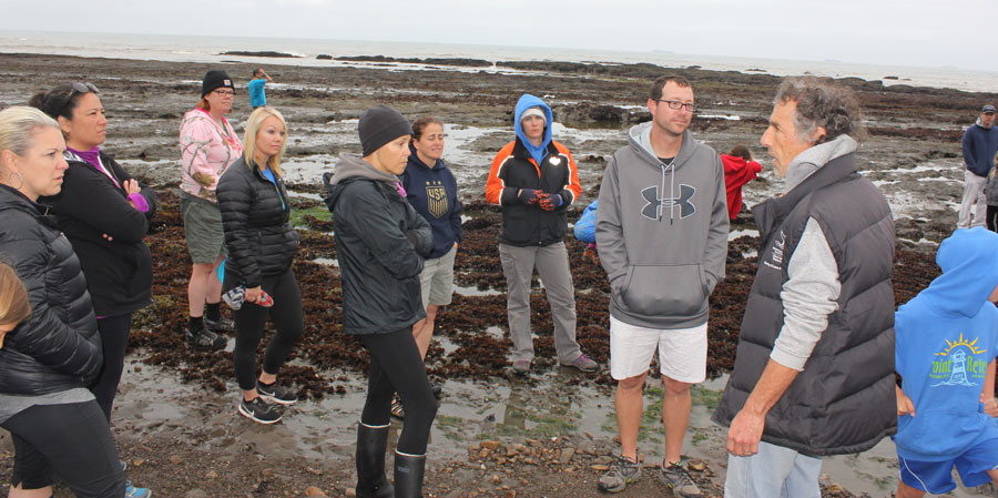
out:
M213 69L201 82L201 101L181 123L181 213L193 268L187 283L187 343L222 349L233 329L222 317L222 282L218 265L225 258L222 212L215 187L225 170L243 155L243 144L225 114L232 111L235 85L225 71Z

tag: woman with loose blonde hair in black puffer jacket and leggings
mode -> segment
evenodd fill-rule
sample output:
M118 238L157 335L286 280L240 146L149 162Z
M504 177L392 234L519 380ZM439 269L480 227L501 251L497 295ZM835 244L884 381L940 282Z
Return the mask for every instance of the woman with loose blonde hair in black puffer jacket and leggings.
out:
M291 405L295 393L277 385L277 370L304 333L302 293L292 271L298 234L292 228L291 202L281 159L287 145L284 116L271 106L256 108L246 123L246 153L218 181L218 206L225 227L223 288L241 287L244 302L235 311L233 362L243 390L238 411L261 424L281 420L267 404ZM256 348L267 315L277 333L267 345L256 376Z

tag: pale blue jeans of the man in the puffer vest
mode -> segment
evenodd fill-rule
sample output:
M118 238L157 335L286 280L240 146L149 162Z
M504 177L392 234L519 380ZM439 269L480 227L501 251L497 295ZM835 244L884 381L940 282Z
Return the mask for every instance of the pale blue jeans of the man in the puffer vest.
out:
M768 443L751 457L727 455L724 498L821 498L822 459Z

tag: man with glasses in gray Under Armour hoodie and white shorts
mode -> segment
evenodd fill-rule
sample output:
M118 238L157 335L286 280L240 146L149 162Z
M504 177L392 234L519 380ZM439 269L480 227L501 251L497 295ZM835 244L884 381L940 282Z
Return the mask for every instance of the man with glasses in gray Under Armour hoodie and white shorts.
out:
M640 476L643 386L658 348L665 392L661 477L675 496L701 496L680 461L690 387L706 377L707 296L724 277L729 221L721 157L688 130L694 109L684 78L655 80L652 121L630 130L629 144L603 173L595 235L610 278L610 374L618 380L621 444L620 458L600 478L604 491L622 491Z

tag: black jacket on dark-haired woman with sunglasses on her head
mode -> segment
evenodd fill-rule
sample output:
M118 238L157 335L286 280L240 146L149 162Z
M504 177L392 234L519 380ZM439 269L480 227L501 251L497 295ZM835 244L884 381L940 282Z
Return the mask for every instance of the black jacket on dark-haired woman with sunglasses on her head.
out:
M73 244L98 316L119 316L152 301L152 256L142 240L156 211L156 193L141 185L145 213L132 207L119 186L132 177L110 156L101 164L118 184L79 157L68 157L62 192L39 200L50 204L59 227ZM111 241L104 237L111 236Z

